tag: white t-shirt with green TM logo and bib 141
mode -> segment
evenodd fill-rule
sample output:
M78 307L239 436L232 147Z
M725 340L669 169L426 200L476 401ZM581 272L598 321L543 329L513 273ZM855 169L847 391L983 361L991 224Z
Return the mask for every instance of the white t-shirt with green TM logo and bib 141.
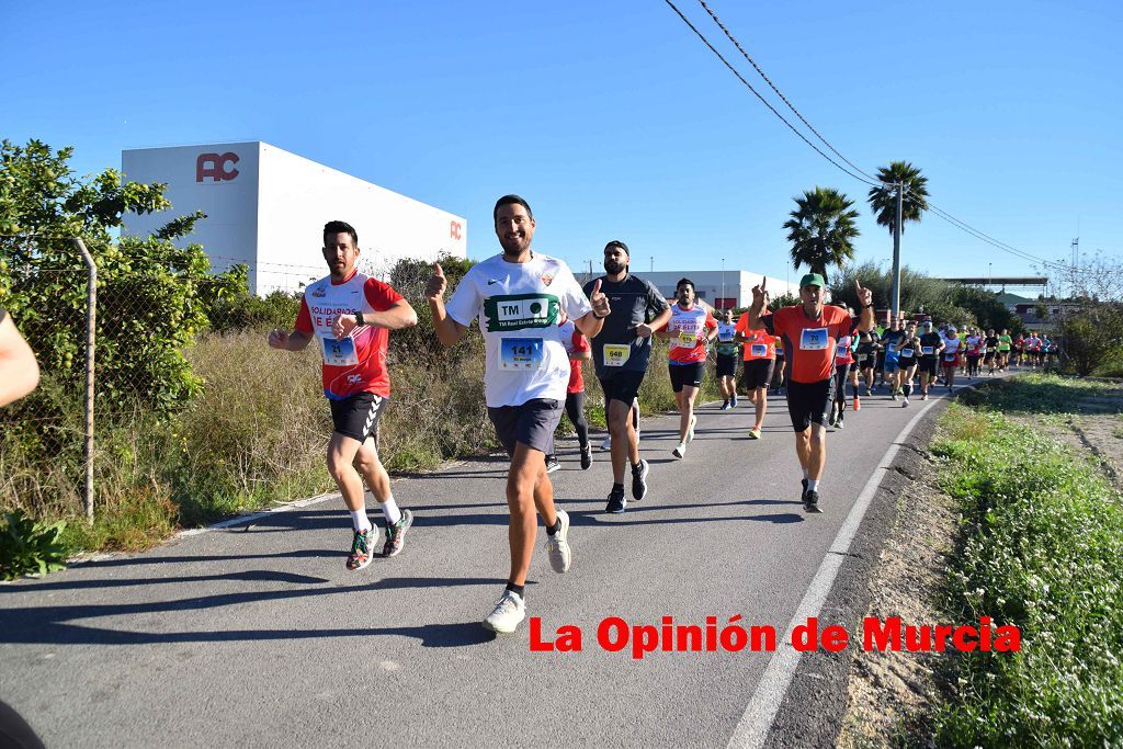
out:
M446 309L465 327L480 319L489 407L565 401L569 356L558 311L575 320L593 307L564 262L538 253L526 263L489 257L465 274Z

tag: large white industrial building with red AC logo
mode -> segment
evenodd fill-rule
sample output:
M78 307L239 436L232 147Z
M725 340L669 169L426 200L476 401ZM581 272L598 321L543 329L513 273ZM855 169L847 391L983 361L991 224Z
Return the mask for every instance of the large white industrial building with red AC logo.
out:
M259 140L121 152L134 182L167 184L172 211L125 217L124 231L148 236L174 217L207 213L181 245L198 243L216 270L249 266L249 286L294 291L327 275L323 225L358 232L359 267L385 274L399 259L466 257L468 223L459 216Z

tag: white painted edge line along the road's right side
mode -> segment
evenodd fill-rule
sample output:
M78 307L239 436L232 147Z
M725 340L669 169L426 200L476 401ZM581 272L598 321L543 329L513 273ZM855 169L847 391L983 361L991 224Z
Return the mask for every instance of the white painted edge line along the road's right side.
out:
M974 387L974 385L969 387ZM959 390L967 389L965 386ZM792 684L792 678L795 676L795 669L800 665L802 654L792 647L792 630L797 624L805 624L807 619L818 616L822 611L823 603L827 602L827 596L834 585L834 578L838 576L839 568L842 567L842 560L850 550L850 544L858 532L858 526L861 524L861 519L866 515L866 510L869 509L869 503L874 500L877 487L882 485L882 479L889 472L889 466L893 465L893 459L901 449L901 442L909 438L909 435L912 433L912 430L920 422L921 417L940 402L940 400L929 401L917 410L916 415L909 420L909 423L905 424L901 433L889 445L889 449L885 451L877 468L869 476L869 481L862 487L861 494L858 495L858 501L850 508L850 514L847 515L846 521L834 537L834 542L831 544L830 550L823 557L822 564L819 565L815 577L811 581L811 585L807 586L806 593L803 594L803 600L800 601L800 605L795 610L795 615L788 622L784 641L779 643L779 649L773 655L772 660L768 661L768 667L765 668L764 676L760 677L757 691L752 693L752 698L749 700L741 721L733 729L733 736L729 739L729 747L756 749L764 746L765 739L768 738L768 732L772 730L773 721L776 720L776 713L784 702L787 687Z

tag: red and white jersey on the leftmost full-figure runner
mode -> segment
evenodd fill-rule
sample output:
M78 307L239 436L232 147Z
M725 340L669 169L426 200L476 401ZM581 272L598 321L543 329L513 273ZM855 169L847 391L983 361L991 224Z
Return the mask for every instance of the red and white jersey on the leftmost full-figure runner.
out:
M304 289L294 328L311 335L323 356L323 394L334 401L355 393L390 395L386 372L386 344L390 331L362 326L350 336L336 340L331 326L340 314L385 312L402 295L377 278L358 271L346 281L334 283L331 276Z

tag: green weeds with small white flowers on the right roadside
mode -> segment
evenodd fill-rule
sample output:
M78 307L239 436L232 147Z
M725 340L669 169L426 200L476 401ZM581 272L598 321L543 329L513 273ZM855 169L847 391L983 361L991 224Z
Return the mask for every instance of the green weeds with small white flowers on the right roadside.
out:
M1021 378L1019 378L1021 381ZM1007 385L1002 403L1034 412L1087 389L1059 378ZM1071 381L1067 381L1071 383ZM964 654L937 720L939 746L1123 742L1123 506L1097 466L1040 428L952 405L933 453L960 501L949 603L1022 633L1017 654Z

